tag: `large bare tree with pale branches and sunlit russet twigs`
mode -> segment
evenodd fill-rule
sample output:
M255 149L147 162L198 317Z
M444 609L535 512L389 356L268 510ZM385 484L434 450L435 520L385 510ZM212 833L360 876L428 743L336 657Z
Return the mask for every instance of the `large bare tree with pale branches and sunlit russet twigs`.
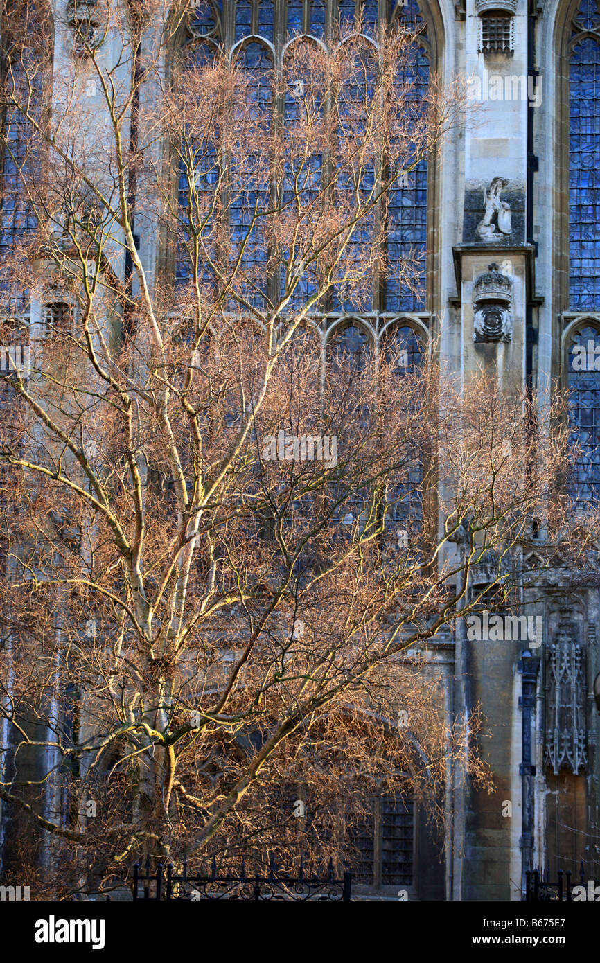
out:
M414 96L402 29L377 57L299 41L272 75L171 55L161 12L109 5L119 56L80 32L53 112L42 53L10 20L5 41L35 222L3 265L5 343L15 294L45 311L2 411L0 798L56 841L65 890L140 853L340 854L365 794L434 808L455 758L485 783L428 639L481 605L482 560L517 600L532 518L576 551L554 410L533 429L526 399L459 390L434 345L410 367L393 332L320 337L389 271L390 190L459 91Z

